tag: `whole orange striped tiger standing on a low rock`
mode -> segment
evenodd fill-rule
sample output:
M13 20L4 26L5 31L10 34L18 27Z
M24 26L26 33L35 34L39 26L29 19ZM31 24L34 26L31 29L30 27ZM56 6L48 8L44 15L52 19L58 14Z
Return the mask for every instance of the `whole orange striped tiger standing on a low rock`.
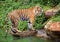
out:
M35 17L39 15L41 12L42 12L42 8L40 6L35 6L35 7L30 7L28 9L17 9L8 13L7 17L12 22L12 31L14 33L21 32L17 28L18 22L20 20L27 20L29 30L35 30L33 28Z

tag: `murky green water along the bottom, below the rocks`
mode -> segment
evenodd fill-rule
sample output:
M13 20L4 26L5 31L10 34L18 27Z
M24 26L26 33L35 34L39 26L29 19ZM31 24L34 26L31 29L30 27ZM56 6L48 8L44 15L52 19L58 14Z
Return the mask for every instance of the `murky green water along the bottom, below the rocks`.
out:
M7 34L3 29L0 29L0 42L52 42L49 39L42 39L38 37L13 37L10 34Z

